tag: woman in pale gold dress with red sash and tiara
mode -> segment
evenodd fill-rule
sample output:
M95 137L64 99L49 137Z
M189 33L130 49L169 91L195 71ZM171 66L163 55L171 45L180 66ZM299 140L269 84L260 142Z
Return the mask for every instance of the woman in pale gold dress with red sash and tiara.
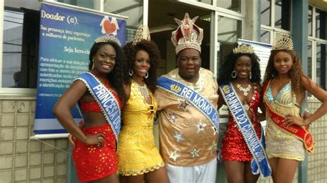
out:
M266 105L266 153L274 182L292 182L299 161L313 153L313 138L308 125L327 112L327 92L301 69L301 61L287 34L277 34L264 77ZM321 101L310 116L302 117L299 107L305 92Z

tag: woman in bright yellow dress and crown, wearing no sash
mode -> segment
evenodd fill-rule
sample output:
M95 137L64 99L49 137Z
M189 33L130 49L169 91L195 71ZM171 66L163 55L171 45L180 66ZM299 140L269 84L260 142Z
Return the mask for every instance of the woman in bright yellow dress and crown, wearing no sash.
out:
M140 30L147 30L147 27L141 26ZM155 43L140 39L139 35L135 36L134 42L123 47L128 65L125 73L128 100L121 114L123 125L117 151L119 181L168 182L166 167L153 134L157 111L153 93L160 54Z

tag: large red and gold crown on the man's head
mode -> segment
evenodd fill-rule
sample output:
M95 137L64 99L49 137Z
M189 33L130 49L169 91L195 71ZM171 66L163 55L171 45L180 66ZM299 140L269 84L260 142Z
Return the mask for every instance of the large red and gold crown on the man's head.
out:
M204 38L204 30L195 25L197 17L190 19L188 13L185 14L183 20L174 19L178 28L172 32L172 43L176 47L176 54L186 48L193 48L201 53L201 42Z

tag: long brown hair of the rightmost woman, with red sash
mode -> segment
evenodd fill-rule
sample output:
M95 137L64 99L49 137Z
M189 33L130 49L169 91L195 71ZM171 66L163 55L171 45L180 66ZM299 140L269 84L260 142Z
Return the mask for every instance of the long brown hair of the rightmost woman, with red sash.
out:
M269 80L275 78L278 75L277 70L274 67L274 57L278 52L286 52L290 54L292 57L293 65L288 71L288 76L290 77L292 91L295 94L299 94L304 96L305 89L301 85L301 76L305 76L302 71L301 61L299 60L299 56L293 50L271 50L268 65L266 67L266 72L264 75L264 86L268 83ZM306 78L308 78L306 76Z

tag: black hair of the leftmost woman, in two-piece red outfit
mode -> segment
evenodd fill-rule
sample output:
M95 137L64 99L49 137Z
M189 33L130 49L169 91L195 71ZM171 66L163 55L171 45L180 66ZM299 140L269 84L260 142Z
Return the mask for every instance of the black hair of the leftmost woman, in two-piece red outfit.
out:
M95 56L95 54L97 54L97 51L103 46L103 45L111 45L112 47L114 47L115 51L116 51L116 63L115 63L115 67L112 70L112 72L110 72L107 75L107 78L110 82L110 85L116 89L116 92L119 96L119 99L124 102L127 99L126 93L125 93L125 89L123 87L123 68L125 67L125 61L124 61L124 56L123 56L123 51L121 50L121 47L115 43L114 41L107 41L107 42L101 42L101 43L94 43L91 47L90 50L90 56L89 56L89 60L90 60L90 64L88 65L88 69L91 70L92 69L92 58L93 56Z

